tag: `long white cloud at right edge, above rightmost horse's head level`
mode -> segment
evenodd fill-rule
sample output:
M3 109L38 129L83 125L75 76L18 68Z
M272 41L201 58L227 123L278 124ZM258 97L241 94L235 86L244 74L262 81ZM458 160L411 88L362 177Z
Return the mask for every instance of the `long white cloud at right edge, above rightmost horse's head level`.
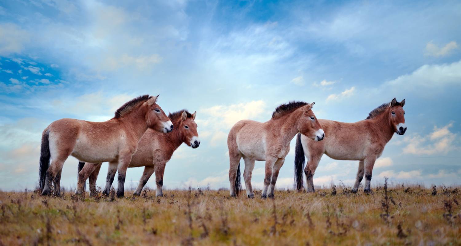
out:
M395 88L398 90L419 88L421 86L431 88L431 93L434 89L443 87L449 84L461 84L461 60L451 64L441 65L423 65L411 74L402 75L394 80L384 84L387 88Z

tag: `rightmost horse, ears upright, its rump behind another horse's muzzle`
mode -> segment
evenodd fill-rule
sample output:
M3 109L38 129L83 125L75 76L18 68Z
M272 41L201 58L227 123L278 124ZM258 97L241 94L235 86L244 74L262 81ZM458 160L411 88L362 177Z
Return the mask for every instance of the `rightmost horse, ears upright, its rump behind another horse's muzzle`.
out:
M370 193L373 165L381 156L387 142L394 132L403 135L407 131L405 126L405 111L402 102L396 98L389 103L384 103L373 109L366 120L355 123L345 123L333 120L322 120L328 138L322 142L314 142L304 136L298 135L295 147L295 183L298 191L302 190L302 170L306 174L307 192L315 192L313 175L319 165L323 154L335 160L359 161L359 170L352 192L356 193L365 174L364 192ZM304 168L305 157L307 165Z

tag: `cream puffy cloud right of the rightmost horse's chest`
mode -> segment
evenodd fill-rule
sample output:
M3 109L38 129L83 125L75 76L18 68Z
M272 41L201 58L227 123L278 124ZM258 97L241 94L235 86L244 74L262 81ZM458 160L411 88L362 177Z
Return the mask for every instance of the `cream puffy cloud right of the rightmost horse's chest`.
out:
M450 122L442 128L434 126L433 132L428 136L414 134L405 137L403 141L408 143L408 145L403 148L403 153L413 155L440 155L447 154L449 151L457 149L458 147L453 144L456 134L449 131L449 128L452 126L453 122Z

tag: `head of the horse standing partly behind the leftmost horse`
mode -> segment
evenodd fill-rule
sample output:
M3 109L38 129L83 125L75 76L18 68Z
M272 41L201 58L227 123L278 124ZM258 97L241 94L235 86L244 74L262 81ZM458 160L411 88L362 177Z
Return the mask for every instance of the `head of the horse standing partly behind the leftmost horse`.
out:
M198 148L200 145L199 134L197 133L197 123L194 121L195 115L197 115L197 111L195 111L194 114L183 111L179 125L176 126L177 131L179 131L179 137L183 140L183 143L189 145L193 149Z

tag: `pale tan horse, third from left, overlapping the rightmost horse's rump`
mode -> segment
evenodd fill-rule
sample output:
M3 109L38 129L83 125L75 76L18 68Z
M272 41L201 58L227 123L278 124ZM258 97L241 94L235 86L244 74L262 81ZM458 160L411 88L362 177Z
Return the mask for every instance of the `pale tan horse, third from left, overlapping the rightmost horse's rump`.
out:
M273 198L278 171L290 151L290 141L301 132L307 138L320 141L325 137L319 121L312 112L315 102L290 102L282 104L272 114L272 119L264 123L254 120L240 120L232 126L227 137L229 148L229 181L231 196L236 197L241 190L240 159L245 161L243 178L248 198L253 198L251 173L254 161L266 161L266 177L261 198Z

